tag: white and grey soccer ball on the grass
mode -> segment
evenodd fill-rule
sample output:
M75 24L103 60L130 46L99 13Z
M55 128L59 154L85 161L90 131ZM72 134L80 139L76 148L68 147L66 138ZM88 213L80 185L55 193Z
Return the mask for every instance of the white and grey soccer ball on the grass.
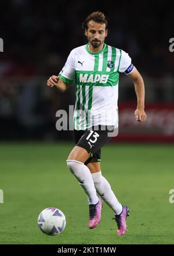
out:
M43 233L55 236L63 232L66 226L66 217L59 209L46 208L39 214L38 226Z

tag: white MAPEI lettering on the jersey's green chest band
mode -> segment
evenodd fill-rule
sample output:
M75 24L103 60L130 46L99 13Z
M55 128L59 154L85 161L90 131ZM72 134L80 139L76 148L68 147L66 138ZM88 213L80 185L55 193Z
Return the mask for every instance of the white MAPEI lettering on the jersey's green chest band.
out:
M96 83L106 84L108 74L79 74L80 83Z

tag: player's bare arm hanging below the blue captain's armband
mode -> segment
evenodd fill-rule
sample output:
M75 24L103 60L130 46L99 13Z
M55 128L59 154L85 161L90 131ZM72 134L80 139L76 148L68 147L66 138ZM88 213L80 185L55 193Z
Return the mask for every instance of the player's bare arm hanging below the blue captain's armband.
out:
M133 71L130 74L128 74L128 76L131 77L133 80L137 97L137 108L135 111L135 118L137 121L144 122L147 118L147 115L144 111L145 90L143 78L137 71L136 67L134 67Z

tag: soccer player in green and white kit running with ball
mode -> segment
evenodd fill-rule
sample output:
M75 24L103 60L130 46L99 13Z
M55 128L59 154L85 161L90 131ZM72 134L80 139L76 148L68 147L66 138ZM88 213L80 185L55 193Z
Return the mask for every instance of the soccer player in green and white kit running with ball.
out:
M67 158L67 166L88 197L90 229L101 219L102 202L115 214L117 234L126 232L129 209L122 205L100 168L101 148L111 140L108 130L118 127L118 80L124 72L133 80L137 108L135 119L146 120L144 83L131 58L122 49L104 43L108 33L107 19L102 12L91 13L84 23L88 44L73 49L59 76L51 76L47 85L64 92L75 81L74 133L75 147Z

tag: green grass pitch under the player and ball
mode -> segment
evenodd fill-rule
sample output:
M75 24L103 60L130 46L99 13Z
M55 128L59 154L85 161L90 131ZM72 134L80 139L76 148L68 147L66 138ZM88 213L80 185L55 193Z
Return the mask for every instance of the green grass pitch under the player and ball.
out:
M103 204L102 220L88 229L87 197L66 166L73 143L1 143L1 244L173 244L174 145L108 144L102 172L122 204L128 205L128 232L116 236L113 211ZM57 236L42 234L39 213L64 212L67 225Z

